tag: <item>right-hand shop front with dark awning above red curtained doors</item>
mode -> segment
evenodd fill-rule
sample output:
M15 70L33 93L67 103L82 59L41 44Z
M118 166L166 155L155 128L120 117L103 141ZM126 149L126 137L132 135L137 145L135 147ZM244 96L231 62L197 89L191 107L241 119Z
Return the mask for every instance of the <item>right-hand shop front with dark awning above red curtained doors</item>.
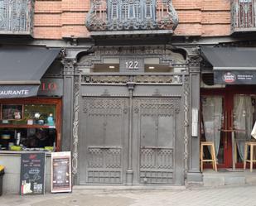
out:
M202 71L201 141L214 142L218 169L240 170L256 120L256 50L202 47L201 52L213 67L210 73ZM206 148L204 153L210 156Z

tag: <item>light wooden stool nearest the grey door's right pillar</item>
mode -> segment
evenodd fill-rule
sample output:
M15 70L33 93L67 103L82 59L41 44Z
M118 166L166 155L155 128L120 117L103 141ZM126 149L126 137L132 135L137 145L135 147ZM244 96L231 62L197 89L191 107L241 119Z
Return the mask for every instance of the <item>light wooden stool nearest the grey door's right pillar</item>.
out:
M204 146L210 146L211 159L204 159ZM200 142L200 170L203 171L204 162L212 162L213 170L217 171L215 144L212 141L201 141Z

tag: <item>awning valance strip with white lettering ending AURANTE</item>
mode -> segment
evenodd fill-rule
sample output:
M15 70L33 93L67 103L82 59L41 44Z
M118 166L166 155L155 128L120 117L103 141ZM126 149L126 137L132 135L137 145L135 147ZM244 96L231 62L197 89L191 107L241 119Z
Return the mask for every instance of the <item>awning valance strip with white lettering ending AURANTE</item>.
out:
M1 85L0 98L27 98L36 96L36 85Z

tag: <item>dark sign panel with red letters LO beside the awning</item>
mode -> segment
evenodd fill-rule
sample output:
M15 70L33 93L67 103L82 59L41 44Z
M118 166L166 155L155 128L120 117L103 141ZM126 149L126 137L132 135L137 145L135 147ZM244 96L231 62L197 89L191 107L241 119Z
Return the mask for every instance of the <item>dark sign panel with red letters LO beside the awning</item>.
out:
M63 79L41 79L37 95L61 97L63 95Z

